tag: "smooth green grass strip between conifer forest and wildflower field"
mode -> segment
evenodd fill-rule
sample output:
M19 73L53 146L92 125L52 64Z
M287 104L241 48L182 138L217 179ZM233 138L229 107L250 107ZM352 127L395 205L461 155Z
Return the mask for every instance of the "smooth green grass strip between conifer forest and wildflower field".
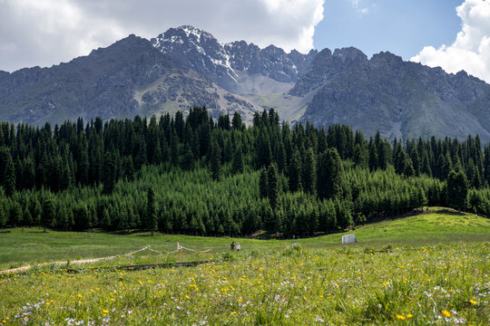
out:
M288 240L257 240L251 238L201 237L191 235L151 236L147 232L131 235L107 233L43 232L43 228L14 228L0 234L0 269L5 270L26 264L73 261L94 257L126 254L151 245L164 254L180 245L208 253L184 251L179 255L158 255L145 251L131 257L113 261L113 264L131 264L133 261L162 263L171 261L207 260L215 254L230 250L231 241L240 242L242 251L268 252L281 250L298 241L305 247L335 246L341 244L342 235L354 234L358 244L381 248L384 245L433 245L437 243L473 242L490 240L490 219L473 214L459 213L444 207L426 208L414 216L387 219L362 225L345 233ZM142 258L144 257L144 259Z

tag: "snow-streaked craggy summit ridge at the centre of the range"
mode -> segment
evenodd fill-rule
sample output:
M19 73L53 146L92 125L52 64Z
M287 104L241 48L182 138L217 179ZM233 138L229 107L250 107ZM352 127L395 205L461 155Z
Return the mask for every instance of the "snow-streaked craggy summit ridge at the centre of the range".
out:
M260 49L245 41L222 44L192 26L171 28L151 42L162 53L181 60L228 91L234 91L240 72L261 74L276 82L296 82L317 54L314 50L308 54L285 53L274 45Z

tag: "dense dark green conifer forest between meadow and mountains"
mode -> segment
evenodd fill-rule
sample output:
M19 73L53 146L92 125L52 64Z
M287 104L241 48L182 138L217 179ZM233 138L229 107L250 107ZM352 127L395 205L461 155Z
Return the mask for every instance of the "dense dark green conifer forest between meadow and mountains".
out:
M490 215L490 144L368 139L289 126L275 110L213 120L0 123L0 227L280 236L344 230L423 206Z

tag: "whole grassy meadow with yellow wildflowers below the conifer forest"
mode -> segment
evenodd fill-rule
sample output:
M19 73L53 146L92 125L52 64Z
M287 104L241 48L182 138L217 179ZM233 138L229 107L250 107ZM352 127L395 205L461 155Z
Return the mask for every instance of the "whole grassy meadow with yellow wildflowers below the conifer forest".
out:
M490 221L432 207L341 235L254 240L184 235L0 234L4 324L487 325ZM230 253L230 242L242 250ZM293 245L294 242L298 245ZM200 253L176 249L177 242ZM48 261L125 254L93 264ZM127 264L209 261L127 270Z

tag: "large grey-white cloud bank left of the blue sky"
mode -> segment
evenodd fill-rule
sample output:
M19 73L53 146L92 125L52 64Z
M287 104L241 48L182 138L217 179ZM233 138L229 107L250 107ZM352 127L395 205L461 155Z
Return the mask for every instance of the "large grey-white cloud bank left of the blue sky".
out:
M313 48L325 0L0 0L0 70L50 66L137 34L191 24L220 42Z

